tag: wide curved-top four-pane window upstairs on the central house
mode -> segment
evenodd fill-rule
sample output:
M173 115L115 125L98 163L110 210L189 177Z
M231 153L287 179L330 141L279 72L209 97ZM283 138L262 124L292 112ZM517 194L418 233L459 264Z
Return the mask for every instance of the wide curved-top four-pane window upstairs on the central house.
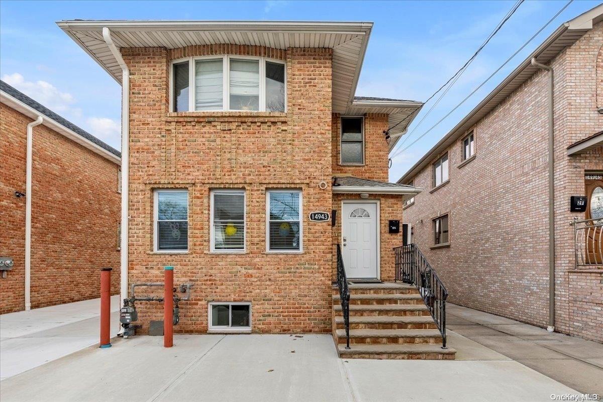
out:
M171 111L285 111L285 63L264 57L172 62Z

